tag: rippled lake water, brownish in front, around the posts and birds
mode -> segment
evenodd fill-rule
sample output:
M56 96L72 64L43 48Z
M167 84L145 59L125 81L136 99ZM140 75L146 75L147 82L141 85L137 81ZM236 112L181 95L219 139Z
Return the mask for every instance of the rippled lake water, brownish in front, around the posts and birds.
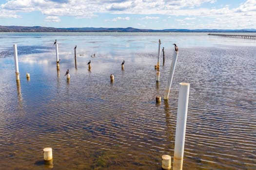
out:
M165 63L161 56L156 83L158 39ZM164 101L173 43L179 55ZM179 83L187 82L183 170L253 170L255 66L255 40L205 33L0 33L0 169L52 168L42 152L51 147L56 170L161 170L161 156L174 155Z

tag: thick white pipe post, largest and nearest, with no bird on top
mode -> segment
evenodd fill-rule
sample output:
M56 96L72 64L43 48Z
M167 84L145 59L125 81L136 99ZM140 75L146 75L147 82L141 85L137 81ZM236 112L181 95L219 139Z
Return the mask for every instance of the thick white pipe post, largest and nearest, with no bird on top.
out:
M179 85L173 170L182 170L190 86L189 83Z

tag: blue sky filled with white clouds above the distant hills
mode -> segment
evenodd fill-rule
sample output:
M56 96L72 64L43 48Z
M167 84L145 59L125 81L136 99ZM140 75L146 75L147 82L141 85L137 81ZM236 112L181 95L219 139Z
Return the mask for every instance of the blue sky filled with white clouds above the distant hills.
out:
M256 0L0 0L0 25L256 29Z

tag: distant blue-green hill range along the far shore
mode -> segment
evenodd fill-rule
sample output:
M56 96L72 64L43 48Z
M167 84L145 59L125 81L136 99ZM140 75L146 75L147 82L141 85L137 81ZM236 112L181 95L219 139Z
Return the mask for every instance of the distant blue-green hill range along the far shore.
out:
M23 26L0 26L0 32L236 32L236 33L253 33L256 29L241 29L241 30L219 30L219 29L138 29L138 28L54 28L54 27L23 27Z

